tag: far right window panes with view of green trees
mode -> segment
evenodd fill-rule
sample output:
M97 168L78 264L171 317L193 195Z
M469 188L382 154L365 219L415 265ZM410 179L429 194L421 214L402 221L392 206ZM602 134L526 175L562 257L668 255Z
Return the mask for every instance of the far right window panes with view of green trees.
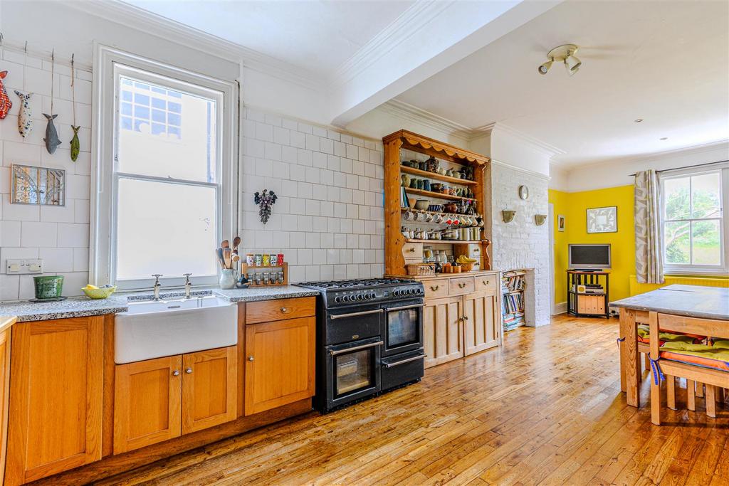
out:
M666 272L725 270L722 169L661 178Z

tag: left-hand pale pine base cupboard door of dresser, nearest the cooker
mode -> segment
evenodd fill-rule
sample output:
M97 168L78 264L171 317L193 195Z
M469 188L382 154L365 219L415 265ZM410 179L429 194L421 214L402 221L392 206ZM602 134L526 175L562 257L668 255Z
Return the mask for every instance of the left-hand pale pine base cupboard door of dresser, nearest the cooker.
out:
M461 296L425 301L423 346L426 368L464 356L462 302Z

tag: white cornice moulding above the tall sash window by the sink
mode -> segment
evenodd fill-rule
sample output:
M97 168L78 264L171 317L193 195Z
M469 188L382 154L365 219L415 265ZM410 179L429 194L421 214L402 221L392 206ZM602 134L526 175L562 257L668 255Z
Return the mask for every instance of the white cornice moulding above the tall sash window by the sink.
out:
M260 71L297 85L321 89L324 83L310 71L262 54L248 47L207 34L190 26L170 20L120 0L66 2L66 5L96 17L136 28L147 34L170 40L190 49L218 58L243 63L245 68Z

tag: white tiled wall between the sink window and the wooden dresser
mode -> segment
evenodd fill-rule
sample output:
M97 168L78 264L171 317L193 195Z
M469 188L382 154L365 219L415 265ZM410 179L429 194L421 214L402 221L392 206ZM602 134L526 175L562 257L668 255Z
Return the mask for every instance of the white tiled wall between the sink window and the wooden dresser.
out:
M243 252L283 253L291 282L382 276L381 141L246 108L242 152ZM267 224L263 189L278 195Z

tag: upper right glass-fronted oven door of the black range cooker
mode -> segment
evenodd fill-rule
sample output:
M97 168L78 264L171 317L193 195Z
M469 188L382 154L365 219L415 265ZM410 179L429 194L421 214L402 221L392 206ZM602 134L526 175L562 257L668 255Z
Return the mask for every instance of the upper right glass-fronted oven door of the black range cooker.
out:
M385 307L382 356L418 350L423 347L423 301L398 302Z

